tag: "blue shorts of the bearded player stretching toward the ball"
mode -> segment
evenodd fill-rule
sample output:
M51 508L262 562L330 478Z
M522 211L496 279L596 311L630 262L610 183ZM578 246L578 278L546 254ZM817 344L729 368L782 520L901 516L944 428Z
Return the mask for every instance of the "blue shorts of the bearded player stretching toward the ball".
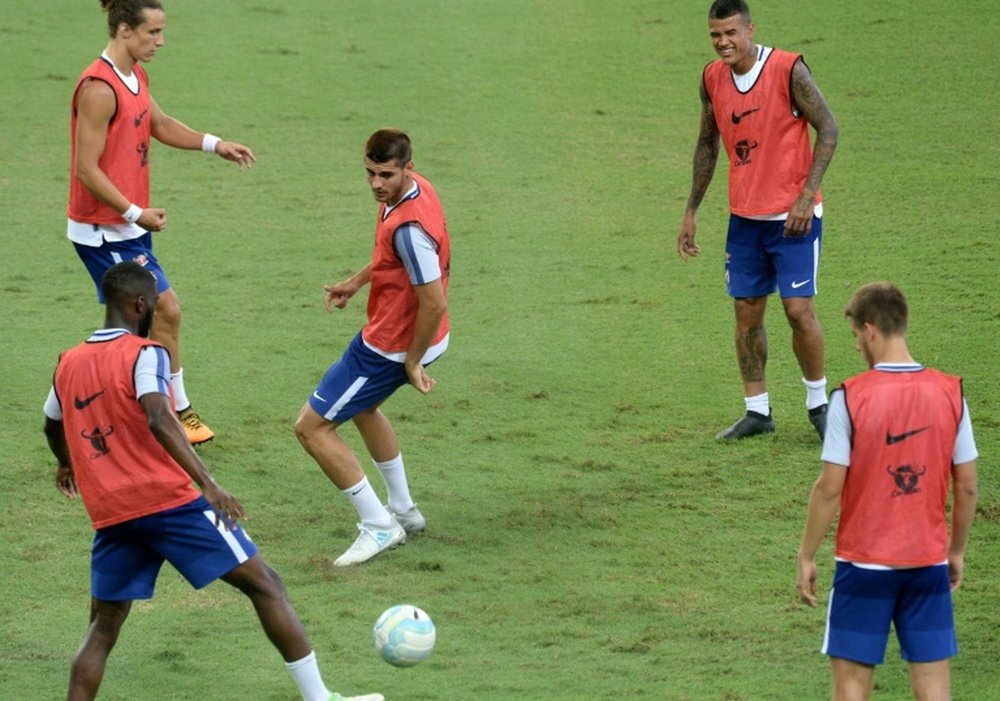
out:
M164 560L201 589L256 553L242 528L216 526L212 506L199 496L184 506L98 530L90 593L101 601L151 599Z

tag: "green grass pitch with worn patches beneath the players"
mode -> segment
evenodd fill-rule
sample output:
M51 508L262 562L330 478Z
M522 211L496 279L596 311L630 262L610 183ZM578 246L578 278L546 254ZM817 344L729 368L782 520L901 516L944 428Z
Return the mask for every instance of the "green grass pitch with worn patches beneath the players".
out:
M241 174L152 154L187 386L218 434L200 452L250 512L328 685L392 701L828 697L823 611L794 590L819 443L776 301L778 433L713 439L742 411L723 164L702 257L675 252L709 3L164 2L158 103L259 157ZM995 699L995 5L751 6L758 40L804 53L840 124L817 297L831 383L862 369L841 311L872 279L907 292L916 357L965 379L981 495L952 669L955 698ZM91 531L52 485L40 428L58 353L102 318L64 232L70 93L105 40L97 0L5 0L0 14L3 699L62 696L87 621ZM448 213L452 346L430 396L386 406L427 532L341 571L353 511L292 422L363 323L361 300L327 315L322 285L370 254L361 146L386 125L411 135ZM377 615L402 601L438 625L434 656L410 670L370 648ZM225 585L195 593L165 568L133 611L101 698L295 698ZM894 642L876 684L876 698L907 697Z

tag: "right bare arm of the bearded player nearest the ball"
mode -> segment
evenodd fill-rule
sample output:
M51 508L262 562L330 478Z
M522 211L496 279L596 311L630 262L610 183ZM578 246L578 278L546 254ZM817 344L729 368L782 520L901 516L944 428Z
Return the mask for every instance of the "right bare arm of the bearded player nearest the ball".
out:
M181 468L188 473L197 484L215 510L215 523L222 523L226 528L232 528L236 522L246 517L243 505L233 495L220 487L208 473L205 464L194 451L184 427L177 420L177 414L171 406L170 397L165 394L151 392L139 398L149 429L157 442Z

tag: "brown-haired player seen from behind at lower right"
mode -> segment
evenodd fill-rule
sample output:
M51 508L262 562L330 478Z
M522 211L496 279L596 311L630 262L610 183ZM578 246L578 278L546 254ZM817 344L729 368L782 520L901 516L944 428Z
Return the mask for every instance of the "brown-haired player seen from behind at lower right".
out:
M977 498L962 381L914 361L906 298L896 287L862 287L845 315L871 369L830 397L823 471L799 549L799 596L816 605L816 551L839 507L822 648L833 698L869 697L892 623L916 698L949 699L948 659L958 652L951 594L962 582Z

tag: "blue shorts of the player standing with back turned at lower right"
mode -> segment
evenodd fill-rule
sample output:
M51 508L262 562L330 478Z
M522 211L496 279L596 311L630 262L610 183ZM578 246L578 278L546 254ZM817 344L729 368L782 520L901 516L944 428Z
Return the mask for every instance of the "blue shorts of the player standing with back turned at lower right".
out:
M948 566L870 570L838 562L822 652L882 664L890 623L907 662L937 662L958 654Z

